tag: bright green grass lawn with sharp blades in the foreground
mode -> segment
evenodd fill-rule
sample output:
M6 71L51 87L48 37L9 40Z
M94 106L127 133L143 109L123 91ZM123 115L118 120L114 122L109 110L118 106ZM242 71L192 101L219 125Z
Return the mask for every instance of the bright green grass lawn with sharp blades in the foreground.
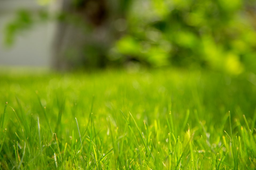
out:
M1 169L256 168L253 73L3 71L0 86Z

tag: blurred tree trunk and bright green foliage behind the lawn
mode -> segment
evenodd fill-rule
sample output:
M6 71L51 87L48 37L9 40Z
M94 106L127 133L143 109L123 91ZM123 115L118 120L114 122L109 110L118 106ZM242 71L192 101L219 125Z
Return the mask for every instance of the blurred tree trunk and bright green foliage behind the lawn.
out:
M39 1L49 2L49 1ZM6 42L56 20L55 68L123 66L256 72L255 0L62 0L60 11L18 12Z

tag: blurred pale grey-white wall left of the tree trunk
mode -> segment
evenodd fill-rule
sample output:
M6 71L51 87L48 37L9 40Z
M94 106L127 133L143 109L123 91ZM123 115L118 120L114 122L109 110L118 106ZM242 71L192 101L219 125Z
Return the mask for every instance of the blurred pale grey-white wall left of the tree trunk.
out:
M19 34L13 46L3 44L3 29L15 16L17 9L38 10L42 7L35 0L0 0L0 67L51 65L51 41L54 24L34 25L32 29Z

